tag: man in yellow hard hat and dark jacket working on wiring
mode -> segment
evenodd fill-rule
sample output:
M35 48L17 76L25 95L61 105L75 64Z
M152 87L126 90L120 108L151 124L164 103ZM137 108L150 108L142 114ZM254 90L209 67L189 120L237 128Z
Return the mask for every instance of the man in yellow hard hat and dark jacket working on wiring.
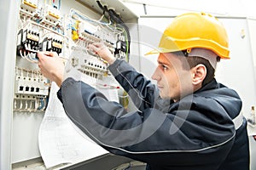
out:
M229 59L224 26L212 15L177 16L157 50L152 78L115 59L102 43L90 50L109 63L109 71L131 96L138 111L128 112L84 82L67 78L55 54L38 54L45 77L61 89L67 116L113 154L147 162L150 170L249 169L247 122L241 99L216 82L219 59Z

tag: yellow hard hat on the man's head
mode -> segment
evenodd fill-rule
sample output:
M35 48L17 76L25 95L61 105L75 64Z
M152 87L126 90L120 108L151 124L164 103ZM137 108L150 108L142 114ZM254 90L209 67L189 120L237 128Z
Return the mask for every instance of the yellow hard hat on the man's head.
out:
M164 31L159 47L148 54L207 48L221 59L230 59L229 40L222 23L211 14L187 13L177 16Z

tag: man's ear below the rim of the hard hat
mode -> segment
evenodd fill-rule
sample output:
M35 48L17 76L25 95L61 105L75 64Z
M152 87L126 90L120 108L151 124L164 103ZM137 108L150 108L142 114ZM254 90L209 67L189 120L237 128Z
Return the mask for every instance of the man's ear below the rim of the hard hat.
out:
M199 64L191 69L192 83L196 85L202 84L205 77L207 77L207 67L205 65Z

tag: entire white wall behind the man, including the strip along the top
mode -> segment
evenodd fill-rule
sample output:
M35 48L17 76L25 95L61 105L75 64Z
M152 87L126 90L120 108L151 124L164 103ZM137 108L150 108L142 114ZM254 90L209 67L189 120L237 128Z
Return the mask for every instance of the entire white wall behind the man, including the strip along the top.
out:
M253 0L122 0L128 8L141 16L139 21L140 71L150 78L157 56L145 57L150 46L157 47L160 34L172 22L172 17L188 11L204 11L221 18L230 37L230 61L222 62L217 77L230 88L235 88L244 101L244 115L249 116L251 105L256 105L256 2ZM143 4L145 4L143 6ZM144 8L145 7L145 8ZM145 10L147 14L145 14ZM148 18L147 18L148 17ZM149 19L150 18L150 19ZM227 19L225 19L227 18ZM233 19L232 19L233 18ZM231 20L232 19L232 20ZM241 31L245 37L241 38ZM150 35L150 36L148 36ZM226 66L224 66L226 65ZM244 66L246 65L246 66ZM150 69L148 69L150 68ZM235 70L235 72L234 72ZM239 70L240 72L236 71ZM232 72L233 71L233 72ZM241 74L241 72L243 72ZM246 76L245 76L246 75Z

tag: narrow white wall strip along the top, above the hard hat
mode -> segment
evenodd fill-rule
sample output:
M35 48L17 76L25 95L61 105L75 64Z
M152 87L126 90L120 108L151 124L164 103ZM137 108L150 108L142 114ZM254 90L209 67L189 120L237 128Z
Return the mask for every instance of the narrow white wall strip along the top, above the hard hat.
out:
M138 16L144 14L143 3L148 15L177 15L184 11L203 11L215 15L247 16L256 18L253 0L122 0Z

